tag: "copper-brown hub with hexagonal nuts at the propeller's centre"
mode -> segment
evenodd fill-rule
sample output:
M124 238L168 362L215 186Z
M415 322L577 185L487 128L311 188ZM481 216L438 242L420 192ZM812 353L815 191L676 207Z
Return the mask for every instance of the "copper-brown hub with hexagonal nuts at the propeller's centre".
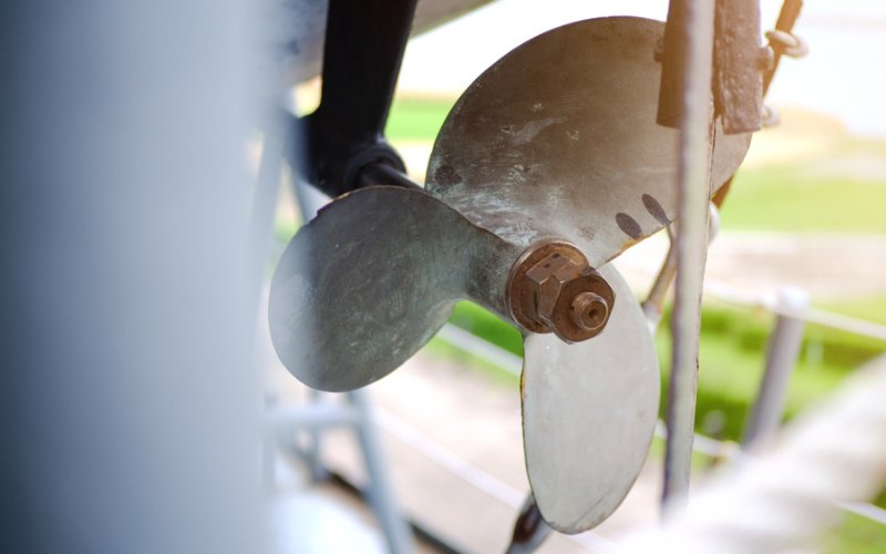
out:
M615 293L575 245L546 242L527 249L511 270L507 302L514 320L532 332L566 342L599 335Z

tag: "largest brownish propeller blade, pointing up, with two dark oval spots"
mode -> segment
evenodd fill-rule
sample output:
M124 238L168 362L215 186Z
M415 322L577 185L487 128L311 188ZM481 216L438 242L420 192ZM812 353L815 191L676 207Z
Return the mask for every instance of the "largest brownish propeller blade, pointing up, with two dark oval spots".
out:
M599 267L670 223L678 132L656 124L663 24L605 18L508 53L462 95L434 145L426 187L522 248L566 238ZM750 134L718 130L713 182Z

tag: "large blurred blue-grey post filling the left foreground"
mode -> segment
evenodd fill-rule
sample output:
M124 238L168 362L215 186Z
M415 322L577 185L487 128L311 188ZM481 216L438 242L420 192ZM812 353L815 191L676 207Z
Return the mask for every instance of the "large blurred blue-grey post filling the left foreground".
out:
M0 2L0 552L262 552L248 9Z

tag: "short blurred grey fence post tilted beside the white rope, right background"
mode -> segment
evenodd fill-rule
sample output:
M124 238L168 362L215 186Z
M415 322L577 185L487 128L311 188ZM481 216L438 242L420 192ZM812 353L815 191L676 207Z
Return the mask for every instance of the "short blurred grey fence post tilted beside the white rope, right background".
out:
M806 324L797 316L806 310L808 304L808 294L803 289L784 288L779 293L779 308L782 308L782 314L779 314L775 329L770 336L766 368L742 441L745 449L772 435L779 428L784 412L787 381L803 345L803 329Z

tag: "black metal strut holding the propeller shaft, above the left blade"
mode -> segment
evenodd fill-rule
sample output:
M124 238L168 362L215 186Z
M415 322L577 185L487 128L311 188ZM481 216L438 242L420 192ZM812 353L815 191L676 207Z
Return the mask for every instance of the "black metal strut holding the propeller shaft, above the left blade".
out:
M405 173L384 125L416 1L329 2L320 106L295 131L308 151L296 171L329 196L359 188L370 165Z

